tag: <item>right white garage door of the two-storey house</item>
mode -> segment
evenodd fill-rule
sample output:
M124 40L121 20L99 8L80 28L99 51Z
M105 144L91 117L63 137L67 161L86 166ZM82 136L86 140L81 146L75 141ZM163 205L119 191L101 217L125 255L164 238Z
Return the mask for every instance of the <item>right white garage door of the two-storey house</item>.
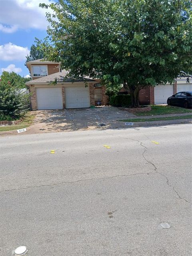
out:
M66 108L88 108L90 107L89 87L66 87Z

